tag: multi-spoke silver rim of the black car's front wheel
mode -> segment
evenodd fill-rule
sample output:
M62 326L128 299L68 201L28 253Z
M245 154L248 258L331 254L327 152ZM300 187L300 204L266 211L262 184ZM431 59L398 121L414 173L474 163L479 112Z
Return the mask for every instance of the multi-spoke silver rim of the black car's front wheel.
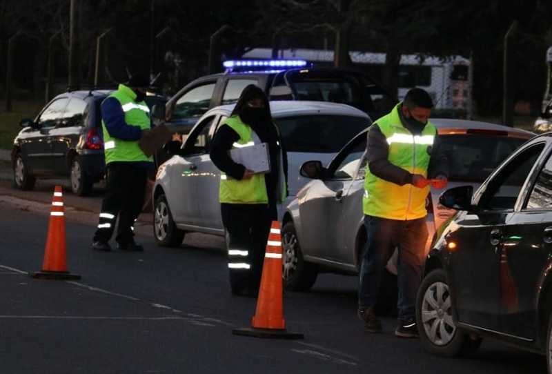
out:
M422 302L422 324L431 343L436 346L449 344L456 326L453 322L449 286L435 282L426 289Z

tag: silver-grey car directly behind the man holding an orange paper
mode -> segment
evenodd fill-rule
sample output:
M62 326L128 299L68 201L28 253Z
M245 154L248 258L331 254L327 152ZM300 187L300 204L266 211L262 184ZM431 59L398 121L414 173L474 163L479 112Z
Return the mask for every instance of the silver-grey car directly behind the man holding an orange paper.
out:
M506 126L460 119L432 119L449 159L449 186L482 181L533 133ZM319 270L356 274L366 243L362 195L364 170L359 165L366 149L368 130L359 133L328 164L309 161L301 174L313 177L287 207L282 219L284 284L293 291L306 291ZM429 230L426 250L433 235L455 210L439 204L442 190L431 189L426 208ZM387 264L396 274L395 255Z

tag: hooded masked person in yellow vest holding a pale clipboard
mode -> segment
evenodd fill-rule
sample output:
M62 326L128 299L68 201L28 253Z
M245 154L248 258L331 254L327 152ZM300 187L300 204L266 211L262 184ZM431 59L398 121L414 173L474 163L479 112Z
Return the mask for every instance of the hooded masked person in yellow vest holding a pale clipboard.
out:
M233 148L266 143L270 172L255 174L230 157ZM256 295L262 275L266 241L277 205L287 195L287 158L268 99L260 88L244 88L228 119L217 129L210 158L221 170L219 201L228 249L230 290Z

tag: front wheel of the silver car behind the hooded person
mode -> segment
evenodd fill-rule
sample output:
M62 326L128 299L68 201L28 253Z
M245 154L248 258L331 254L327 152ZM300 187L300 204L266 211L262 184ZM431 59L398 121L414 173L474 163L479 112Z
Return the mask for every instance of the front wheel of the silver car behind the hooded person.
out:
M157 245L164 247L180 246L184 240L184 231L177 228L175 221L172 220L167 199L163 194L155 199L153 236Z

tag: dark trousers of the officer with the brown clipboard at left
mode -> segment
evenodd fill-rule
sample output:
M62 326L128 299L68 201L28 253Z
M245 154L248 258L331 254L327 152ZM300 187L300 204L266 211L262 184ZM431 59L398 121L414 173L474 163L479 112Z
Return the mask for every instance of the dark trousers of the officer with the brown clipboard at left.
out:
M133 241L134 223L144 205L148 170L126 162L113 162L107 166L106 194L101 202L95 242L108 242L115 230L121 244Z

